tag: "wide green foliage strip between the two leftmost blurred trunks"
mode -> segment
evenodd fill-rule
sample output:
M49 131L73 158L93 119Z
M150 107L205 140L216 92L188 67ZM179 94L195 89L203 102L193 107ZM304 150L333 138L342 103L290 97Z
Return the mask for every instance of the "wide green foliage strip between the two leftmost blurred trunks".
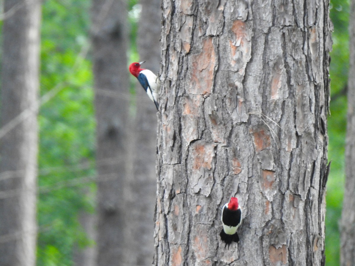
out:
M85 193L95 189L92 65L81 55L90 4L43 4L41 95L58 93L39 113L38 265L72 265L73 247L89 243L78 214L93 211Z

